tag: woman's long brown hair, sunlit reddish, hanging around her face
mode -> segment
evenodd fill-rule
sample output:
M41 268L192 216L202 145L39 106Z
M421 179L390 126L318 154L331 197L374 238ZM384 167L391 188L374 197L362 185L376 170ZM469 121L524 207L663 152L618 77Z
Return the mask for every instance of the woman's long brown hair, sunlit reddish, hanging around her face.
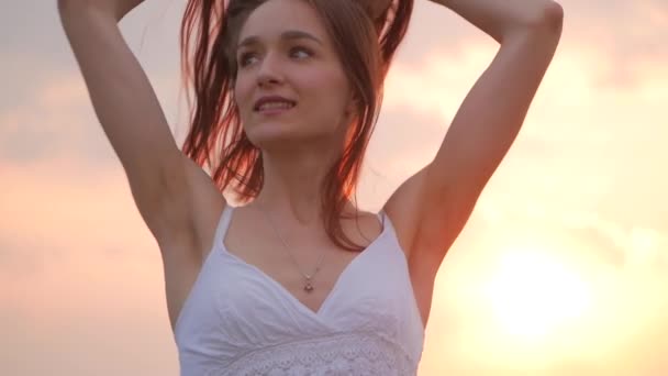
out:
M234 46L248 15L266 1L188 0L180 31L183 86L192 85L194 91L194 106L187 91L191 124L182 151L211 173L221 191L232 188L242 202L259 195L264 170L260 150L246 136L234 101ZM380 0L305 1L332 36L356 99L343 154L323 181L324 225L336 245L360 251L343 232L339 218L357 186L383 80L408 30L414 0L391 0L379 15L369 14L364 3Z

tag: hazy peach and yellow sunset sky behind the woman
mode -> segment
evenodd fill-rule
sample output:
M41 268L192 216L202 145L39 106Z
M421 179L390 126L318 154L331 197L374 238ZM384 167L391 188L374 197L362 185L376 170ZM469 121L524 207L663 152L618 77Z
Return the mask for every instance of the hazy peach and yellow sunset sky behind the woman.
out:
M183 3L121 23L178 140ZM555 60L441 268L420 376L668 375L668 2L561 4ZM434 156L497 52L445 8L416 0L414 16L367 210ZM0 4L0 375L176 376L158 248L56 1Z

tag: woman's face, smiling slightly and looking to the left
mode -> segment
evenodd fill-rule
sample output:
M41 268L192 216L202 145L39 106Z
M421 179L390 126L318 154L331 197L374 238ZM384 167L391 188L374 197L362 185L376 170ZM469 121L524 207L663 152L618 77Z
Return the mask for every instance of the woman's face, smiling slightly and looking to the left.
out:
M234 92L242 124L257 146L342 142L350 86L316 11L304 0L269 0L241 30ZM278 96L290 102L268 103ZM293 104L293 106L291 106ZM316 145L313 143L313 145Z

